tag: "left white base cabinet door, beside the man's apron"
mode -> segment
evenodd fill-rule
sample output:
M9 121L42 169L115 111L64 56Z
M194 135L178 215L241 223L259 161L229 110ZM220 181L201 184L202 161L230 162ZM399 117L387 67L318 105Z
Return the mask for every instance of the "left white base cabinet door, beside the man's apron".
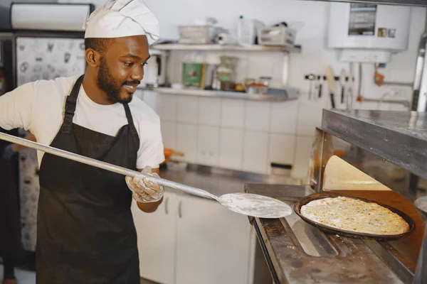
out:
M132 202L142 278L174 284L176 212L177 199L172 192L164 193L164 200L154 213L144 213Z

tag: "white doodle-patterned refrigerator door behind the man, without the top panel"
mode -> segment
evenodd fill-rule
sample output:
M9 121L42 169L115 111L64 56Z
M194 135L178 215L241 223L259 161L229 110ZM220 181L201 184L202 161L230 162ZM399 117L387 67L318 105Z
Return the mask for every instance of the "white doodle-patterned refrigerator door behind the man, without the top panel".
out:
M14 82L16 87L37 80L82 75L85 72L83 34L16 33L14 34ZM25 131L20 131L24 136ZM23 247L36 250L38 161L36 151L19 153L21 224Z

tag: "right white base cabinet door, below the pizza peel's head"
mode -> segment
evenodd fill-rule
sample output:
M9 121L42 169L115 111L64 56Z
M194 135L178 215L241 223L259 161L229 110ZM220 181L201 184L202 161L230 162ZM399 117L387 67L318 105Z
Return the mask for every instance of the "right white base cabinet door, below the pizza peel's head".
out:
M179 196L176 284L247 284L251 263L248 217L217 202Z

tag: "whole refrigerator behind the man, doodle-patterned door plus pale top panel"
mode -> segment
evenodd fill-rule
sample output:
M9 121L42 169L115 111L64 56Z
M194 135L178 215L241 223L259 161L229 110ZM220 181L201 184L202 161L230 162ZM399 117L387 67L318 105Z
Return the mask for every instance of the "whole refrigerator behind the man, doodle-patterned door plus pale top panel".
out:
M83 21L93 11L94 6L48 3L15 5L11 6L11 58L13 58L14 87L37 80L82 75L86 66ZM19 11L14 12L12 10L14 6ZM73 9L74 11L71 11ZM25 13L26 10L43 11L46 14ZM75 13L76 23L61 23L61 20L67 16L61 16L58 13L68 14L68 17L70 13ZM19 19L14 21L14 15L18 15ZM52 23L46 24L46 18L49 18ZM38 23L42 28L37 28ZM31 29L25 28L28 26L31 26ZM47 30L46 27L52 28ZM19 136L25 135L26 131L19 129ZM33 149L21 151L19 153L21 234L23 247L29 252L36 251L37 205L40 190L38 170L36 151Z

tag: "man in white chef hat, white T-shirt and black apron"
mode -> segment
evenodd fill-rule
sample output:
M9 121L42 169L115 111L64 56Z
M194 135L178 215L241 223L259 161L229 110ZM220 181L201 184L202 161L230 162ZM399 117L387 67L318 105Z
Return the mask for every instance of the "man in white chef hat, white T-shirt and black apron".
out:
M86 23L85 75L5 94L0 127L27 129L38 143L157 175L164 160L159 117L132 94L158 38L157 19L142 0L108 1ZM38 163L37 282L139 283L130 204L133 197L142 211L154 212L163 187L48 153L38 152Z

